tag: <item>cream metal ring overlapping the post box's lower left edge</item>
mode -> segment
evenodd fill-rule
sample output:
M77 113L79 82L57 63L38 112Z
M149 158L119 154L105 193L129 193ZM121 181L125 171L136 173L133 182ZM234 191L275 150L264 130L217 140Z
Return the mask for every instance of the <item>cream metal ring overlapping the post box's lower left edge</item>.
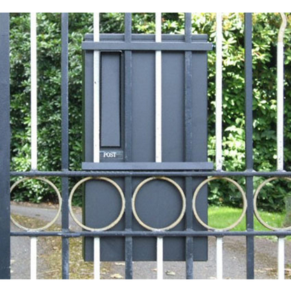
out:
M120 214L118 215L118 218L114 222L112 222L111 225L108 225L107 227L103 227L103 228L99 228L99 229L95 229L95 228L92 228L92 227L87 227L86 225L83 225L83 223L81 223L78 220L78 218L76 218L76 215L73 213L73 207L72 207L73 195L75 194L75 192L78 189L78 187L80 187L80 185L83 185L84 183L86 183L86 182L88 182L90 180L105 181L105 182L113 185L118 190L118 193L120 194L121 201L122 201L122 208L121 208ZM89 232L106 232L107 230L112 229L113 227L118 225L120 220L122 220L122 217L123 217L123 215L125 213L125 194L123 193L123 191L120 188L120 186L118 185L118 183L115 183L113 180L111 180L109 178L104 178L104 177L84 178L83 180L80 180L80 182L78 182L75 185L75 187L73 187L73 190L71 191L70 198L69 198L69 210L70 210L70 213L71 213L71 217L73 218L73 220L76 222L76 224L79 227L82 227L83 229L85 229L85 230L87 230Z

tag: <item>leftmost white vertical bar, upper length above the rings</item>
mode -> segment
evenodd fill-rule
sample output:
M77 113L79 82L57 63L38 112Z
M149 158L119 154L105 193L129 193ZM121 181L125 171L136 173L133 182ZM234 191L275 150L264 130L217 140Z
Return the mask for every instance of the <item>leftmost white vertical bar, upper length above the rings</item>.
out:
M30 13L31 31L31 170L38 168L37 149L37 11Z

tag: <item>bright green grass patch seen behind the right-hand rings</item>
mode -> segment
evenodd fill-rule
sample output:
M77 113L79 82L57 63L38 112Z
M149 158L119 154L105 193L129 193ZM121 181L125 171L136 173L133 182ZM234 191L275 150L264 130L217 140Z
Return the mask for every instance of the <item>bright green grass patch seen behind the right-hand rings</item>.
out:
M234 222L239 220L241 216L241 209L231 208L231 207L218 207L211 206L208 210L208 220L211 227L217 229L223 229L233 225ZM281 228L285 222L285 213L267 213L260 211L262 219L267 222L272 227ZM266 229L260 222L255 218L255 230L258 232L265 232L269 229ZM243 219L240 225L238 225L234 232L245 232L246 231L246 218Z

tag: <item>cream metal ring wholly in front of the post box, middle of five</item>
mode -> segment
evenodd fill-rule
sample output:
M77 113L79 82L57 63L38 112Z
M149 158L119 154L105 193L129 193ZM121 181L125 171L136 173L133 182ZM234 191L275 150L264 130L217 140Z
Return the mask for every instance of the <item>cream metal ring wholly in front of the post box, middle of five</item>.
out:
M180 216L178 217L178 219L175 222L173 222L171 225L169 225L168 227L164 227L162 229L157 229L157 228L154 228L154 227L150 227L149 225L146 225L146 223L143 222L141 220L141 218L139 218L139 215L138 215L138 213L136 211L136 198L138 197L138 194L139 194L141 188L144 185L152 182L153 180L164 180L166 182L171 183L173 186L175 186L178 189L178 192L179 192L180 197L181 197L182 202L183 202L182 211L181 211ZM180 187L180 185L178 185L178 183L176 183L174 180L172 180L170 178L166 178L166 177L152 177L152 178L148 178L146 180L143 180L143 182L139 184L139 186L136 188L136 190L134 192L134 196L132 198L132 211L134 213L134 217L136 218L136 220L145 229L148 229L148 230L150 230L152 232L166 232L166 231L169 231L169 230L175 228L183 220L183 218L185 216L185 213L186 213L186 197L185 197L185 194L184 194L182 188Z

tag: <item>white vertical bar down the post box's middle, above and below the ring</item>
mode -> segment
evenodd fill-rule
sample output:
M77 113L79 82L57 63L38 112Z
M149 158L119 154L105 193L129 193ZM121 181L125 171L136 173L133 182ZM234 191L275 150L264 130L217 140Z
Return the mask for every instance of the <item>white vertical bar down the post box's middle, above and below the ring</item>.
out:
M155 41L162 42L162 10L155 12ZM155 162L162 162L162 52L155 52ZM157 238L157 281L164 281L164 239Z

